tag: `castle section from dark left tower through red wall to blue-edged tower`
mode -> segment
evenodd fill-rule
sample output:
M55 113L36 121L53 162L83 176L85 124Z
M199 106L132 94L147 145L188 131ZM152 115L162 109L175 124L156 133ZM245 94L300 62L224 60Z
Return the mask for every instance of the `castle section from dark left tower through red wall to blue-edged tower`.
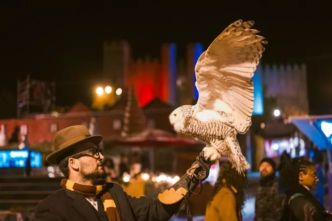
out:
M115 87L133 86L140 107L154 98L176 106L175 44L162 45L160 60L149 58L133 60L130 51L130 46L124 41L104 44L105 80L115 84Z

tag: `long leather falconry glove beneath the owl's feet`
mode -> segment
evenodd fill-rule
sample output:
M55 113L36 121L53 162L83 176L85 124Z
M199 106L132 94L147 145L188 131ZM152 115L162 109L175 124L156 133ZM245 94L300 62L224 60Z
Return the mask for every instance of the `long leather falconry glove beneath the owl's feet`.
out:
M178 182L158 194L159 201L163 204L174 204L185 197L189 197L194 192L197 185L202 184L209 176L210 167L211 165L204 160L204 154L201 152L196 158L196 161L187 170L187 173L184 174Z

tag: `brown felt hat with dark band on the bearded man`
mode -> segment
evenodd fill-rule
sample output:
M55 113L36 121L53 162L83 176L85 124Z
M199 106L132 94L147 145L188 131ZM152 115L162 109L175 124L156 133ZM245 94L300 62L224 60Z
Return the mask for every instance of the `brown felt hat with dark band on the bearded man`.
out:
M48 155L46 161L57 165L62 159L92 147L83 144L92 143L98 146L102 139L102 135L91 135L86 126L75 125L66 127L54 134L52 148L56 151Z

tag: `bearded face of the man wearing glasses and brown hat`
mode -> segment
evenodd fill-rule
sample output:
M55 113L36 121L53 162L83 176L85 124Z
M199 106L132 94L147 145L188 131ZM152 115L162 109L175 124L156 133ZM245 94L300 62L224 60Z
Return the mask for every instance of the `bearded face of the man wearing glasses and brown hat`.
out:
M97 151L89 151L79 157L79 175L84 181L96 182L100 178L105 178L105 170L102 165L104 156Z

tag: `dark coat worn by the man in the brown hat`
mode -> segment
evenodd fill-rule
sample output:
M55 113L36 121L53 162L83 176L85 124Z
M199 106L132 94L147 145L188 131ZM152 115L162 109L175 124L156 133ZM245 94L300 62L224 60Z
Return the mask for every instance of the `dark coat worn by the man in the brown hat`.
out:
M169 220L180 208L180 203L164 205L157 199L131 197L117 184L113 184L110 193L122 221ZM100 221L101 217L85 196L59 189L38 204L35 220Z

